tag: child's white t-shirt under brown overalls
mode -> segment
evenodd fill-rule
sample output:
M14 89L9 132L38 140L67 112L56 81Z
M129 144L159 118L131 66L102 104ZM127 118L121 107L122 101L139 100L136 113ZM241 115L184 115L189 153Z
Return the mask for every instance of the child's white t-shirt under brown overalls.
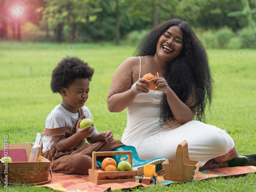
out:
M86 106L83 106L82 110L83 110L83 115L85 115L86 118L93 120L91 112ZM78 118L79 118L79 113L71 113L68 110L66 110L61 104L58 104L57 106L55 106L52 112L47 116L46 128L53 129L60 126L72 127ZM98 133L96 127L93 133L90 135L90 137L95 133ZM54 142L52 140L52 137L44 136L44 139L42 140L42 147L43 147L42 153L50 150L53 146L54 146Z

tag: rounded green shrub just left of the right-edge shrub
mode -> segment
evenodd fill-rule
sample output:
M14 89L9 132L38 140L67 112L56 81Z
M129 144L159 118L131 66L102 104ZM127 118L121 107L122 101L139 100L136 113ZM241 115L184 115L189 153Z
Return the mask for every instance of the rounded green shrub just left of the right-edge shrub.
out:
M216 32L219 48L225 49L228 47L229 41L233 36L233 32L230 28L224 27Z

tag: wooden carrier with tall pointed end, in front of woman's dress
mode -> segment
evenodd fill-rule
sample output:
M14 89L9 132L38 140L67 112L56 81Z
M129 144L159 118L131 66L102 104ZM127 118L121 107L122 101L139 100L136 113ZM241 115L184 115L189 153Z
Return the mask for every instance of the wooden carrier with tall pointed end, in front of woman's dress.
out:
M196 178L200 161L192 161L188 157L187 142L181 142L175 159L166 159L163 163L164 180L192 181Z

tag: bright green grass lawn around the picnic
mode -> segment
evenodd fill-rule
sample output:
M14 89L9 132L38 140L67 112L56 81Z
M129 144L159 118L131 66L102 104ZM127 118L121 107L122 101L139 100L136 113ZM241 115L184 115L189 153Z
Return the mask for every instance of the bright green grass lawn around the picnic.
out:
M112 130L121 139L126 126L126 111L110 113L106 97L116 68L136 47L112 44L0 43L0 144L34 142L45 128L45 119L61 102L50 90L51 72L66 55L78 56L95 69L90 83L90 109L99 132ZM207 50L214 98L207 123L226 129L240 154L256 153L256 65L255 50ZM1 146L2 148L2 146ZM0 191L5 190L0 185ZM137 188L138 191L255 191L256 176L219 178ZM5 190L8 191L8 190ZM9 191L53 191L32 186L9 186Z

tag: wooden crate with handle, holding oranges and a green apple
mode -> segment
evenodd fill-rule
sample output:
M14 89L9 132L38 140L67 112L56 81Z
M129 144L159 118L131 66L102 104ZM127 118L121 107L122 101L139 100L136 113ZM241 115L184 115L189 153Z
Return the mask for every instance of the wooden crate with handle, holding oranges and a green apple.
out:
M133 152L122 151L122 152L93 152L92 154L92 168L89 169L89 181L96 185L105 183L124 183L124 182L135 182L136 170L117 171L117 172L101 172L102 169L96 169L96 157L97 156L113 156L113 155L129 155L128 162L133 164ZM104 177L117 176L117 179L108 179ZM126 176L126 178L124 178Z

